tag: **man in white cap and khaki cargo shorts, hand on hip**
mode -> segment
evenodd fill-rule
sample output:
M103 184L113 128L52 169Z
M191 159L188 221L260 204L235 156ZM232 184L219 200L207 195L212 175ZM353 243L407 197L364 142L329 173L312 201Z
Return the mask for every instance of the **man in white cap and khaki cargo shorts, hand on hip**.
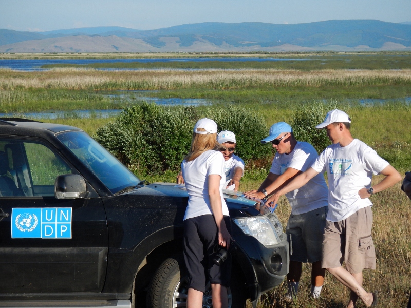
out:
M305 185L310 179L327 171L329 194L328 214L324 229L322 267L350 288L347 307L360 298L366 306L377 305L377 293L362 287L364 268L376 268L375 247L371 238L371 195L401 180L401 175L377 152L350 132L351 119L334 109L316 128L327 129L332 144L310 168L280 188L267 202L277 202L279 196ZM371 187L372 175L385 178ZM343 261L345 267L342 267Z

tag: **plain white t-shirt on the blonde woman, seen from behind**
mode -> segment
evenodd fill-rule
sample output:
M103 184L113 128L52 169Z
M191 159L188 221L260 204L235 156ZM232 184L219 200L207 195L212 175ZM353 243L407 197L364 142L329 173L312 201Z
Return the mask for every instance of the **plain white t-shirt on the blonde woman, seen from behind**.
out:
M188 162L183 160L181 171L187 192L189 204L185 210L184 219L201 215L213 214L210 205L209 175L219 175L222 214L229 216L226 201L222 197L222 188L225 181L224 157L221 152L208 150L196 159Z

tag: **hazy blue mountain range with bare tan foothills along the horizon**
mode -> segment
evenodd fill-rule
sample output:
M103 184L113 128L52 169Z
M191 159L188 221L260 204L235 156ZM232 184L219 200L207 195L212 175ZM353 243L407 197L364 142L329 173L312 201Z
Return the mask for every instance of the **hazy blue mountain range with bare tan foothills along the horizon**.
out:
M305 24L198 23L137 30L0 29L0 52L411 50L411 23L330 20Z

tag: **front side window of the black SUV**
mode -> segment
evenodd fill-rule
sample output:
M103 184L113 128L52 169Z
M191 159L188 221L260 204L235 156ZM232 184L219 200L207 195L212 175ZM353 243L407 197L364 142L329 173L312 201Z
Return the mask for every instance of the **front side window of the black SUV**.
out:
M54 196L54 181L70 167L46 145L0 140L0 197Z

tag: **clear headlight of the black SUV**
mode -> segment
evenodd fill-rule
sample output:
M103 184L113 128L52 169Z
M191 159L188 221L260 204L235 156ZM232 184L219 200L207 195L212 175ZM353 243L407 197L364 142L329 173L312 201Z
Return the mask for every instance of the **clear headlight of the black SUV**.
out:
M280 242L274 226L265 216L235 218L234 222L242 232L255 237L264 246L276 245Z

